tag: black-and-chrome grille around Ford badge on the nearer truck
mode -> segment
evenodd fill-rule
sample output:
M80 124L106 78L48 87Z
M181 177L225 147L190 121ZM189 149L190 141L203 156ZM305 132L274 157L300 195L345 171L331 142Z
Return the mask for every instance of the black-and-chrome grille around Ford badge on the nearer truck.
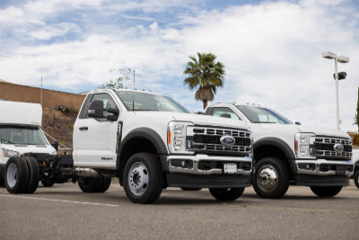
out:
M232 136L235 143L232 146L224 146L220 138ZM187 148L192 151L223 151L250 153L251 151L250 131L241 129L218 129L203 127L187 128Z

